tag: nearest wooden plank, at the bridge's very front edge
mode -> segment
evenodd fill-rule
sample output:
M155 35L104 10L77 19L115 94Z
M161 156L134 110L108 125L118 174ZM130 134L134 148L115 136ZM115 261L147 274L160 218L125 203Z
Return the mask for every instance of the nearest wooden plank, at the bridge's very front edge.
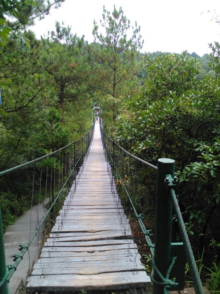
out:
M145 288L150 285L150 278L144 271L137 273L133 272L116 272L116 273L102 273L99 275L48 275L35 276L28 278L27 288L31 293L35 293L38 289L40 291L80 291L84 289L89 290L120 290L131 288Z

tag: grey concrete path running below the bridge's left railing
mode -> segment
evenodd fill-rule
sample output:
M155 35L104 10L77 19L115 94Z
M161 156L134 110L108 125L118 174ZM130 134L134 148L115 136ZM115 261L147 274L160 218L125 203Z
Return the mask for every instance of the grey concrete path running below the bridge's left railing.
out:
M33 233L38 227L39 223L45 215L44 204L48 202L48 199L40 205L33 206L32 209L26 211L20 216L13 225L9 225L4 233L4 245L5 245L5 257L6 265L13 264L12 255L20 253L18 250L19 244L27 244L29 238L33 236ZM40 252L40 245L43 238L44 225L41 226L40 232L36 235L33 242L30 245L28 251L26 251L21 263L18 265L17 270L13 273L9 288L11 294L14 294L21 284L26 285L27 275L29 276L29 269L32 268L33 263L38 259ZM29 254L28 254L29 252Z

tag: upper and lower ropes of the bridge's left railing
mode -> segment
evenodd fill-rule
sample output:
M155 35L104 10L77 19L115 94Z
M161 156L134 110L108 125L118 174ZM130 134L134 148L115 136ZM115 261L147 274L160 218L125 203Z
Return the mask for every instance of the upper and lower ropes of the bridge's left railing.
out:
M74 173L76 173L76 168L78 166L78 164L82 161L82 159L84 158L84 156L87 154L88 150L89 150L89 147L90 147L90 143L92 141L92 137L93 137L93 133L94 133L94 126L95 124L93 124L93 127L92 129L83 137L81 137L80 139L78 139L77 141L74 141L72 143L70 143L69 145L63 147L63 148L60 148L59 150L57 151L54 151L50 154L47 154L45 156L42 156L40 158L37 158L35 160L32 160L32 161L29 161L27 163L23 163L19 166L15 166L13 168L10 168L6 171L2 171L0 173L0 177L1 176L5 176L6 174L8 173L11 173L15 170L19 170L19 169L22 169L26 166L30 166L32 165L33 163L36 163L36 162L39 162L39 161L42 161L43 159L47 158L48 156L53 156L54 154L60 152L60 151L63 151L65 149L67 149L69 146L71 146L72 144L75 144L76 142L79 142L80 140L82 140L83 138L86 138L88 139L88 135L89 135L89 140L86 140L87 144L85 145L85 148L83 149L82 151L82 154L79 156L77 162L75 163L75 166L72 168L70 174L68 175L65 183L63 184L62 188L60 189L59 193L57 194L56 198L54 199L53 203L51 204L50 208L48 209L48 211L45 213L45 216L43 217L42 221L40 222L40 224L38 225L38 227L36 228L35 232L33 233L32 237L30 238L28 244L20 244L19 245L19 250L21 251L20 254L15 254L13 255L14 259L13 261L15 261L13 263L13 265L8 265L7 268L5 269L5 275L3 278L1 278L1 281L0 281L0 293L1 293L1 288L5 285L5 282L6 280L9 282L10 278L12 277L13 273L15 272L15 270L17 269L19 263L21 262L21 260L23 259L23 256L24 254L26 253L26 251L29 249L29 246L31 245L32 241L34 240L35 236L37 235L37 233L39 232L41 226L43 225L43 223L45 222L45 220L47 219L48 215L51 213L52 211L52 208L55 206L55 204L57 203L57 200L60 198L60 196L62 195L62 192L64 191L64 189L67 187L71 177L73 176ZM82 143L82 146L83 146L83 143ZM1 220L0 220L1 221ZM1 235L1 232L0 232L0 235ZM1 236L0 236L1 237ZM2 235L3 237L3 235ZM2 239L2 242L3 242L3 238L0 238ZM0 244L0 247L3 247L3 250L4 250L4 243L3 244ZM1 265L0 265L1 266Z

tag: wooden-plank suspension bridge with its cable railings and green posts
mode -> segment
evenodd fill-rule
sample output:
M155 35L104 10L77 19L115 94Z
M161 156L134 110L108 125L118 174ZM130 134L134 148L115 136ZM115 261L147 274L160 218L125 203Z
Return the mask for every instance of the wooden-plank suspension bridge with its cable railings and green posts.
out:
M152 175L157 173L154 243L153 234L143 223L143 185L138 180L143 168L150 169ZM0 294L11 294L9 281L43 224L47 224L49 233L45 233L37 263L30 267L27 288L31 293L128 289L133 289L130 293L145 293L152 281L154 294L168 294L183 290L187 259L196 294L204 294L175 196L174 160L159 159L158 166L153 166L120 147L101 125L99 130L96 121L79 140L2 171L0 178L10 181L12 174L19 175L23 189L25 177L33 179L32 203L34 195L41 199L42 194L50 201L35 233L32 237L30 233L28 243L19 245L21 252L13 255L14 263L7 267L0 224ZM172 208L182 243L171 243ZM135 220L152 254L151 279L141 264L132 234Z

